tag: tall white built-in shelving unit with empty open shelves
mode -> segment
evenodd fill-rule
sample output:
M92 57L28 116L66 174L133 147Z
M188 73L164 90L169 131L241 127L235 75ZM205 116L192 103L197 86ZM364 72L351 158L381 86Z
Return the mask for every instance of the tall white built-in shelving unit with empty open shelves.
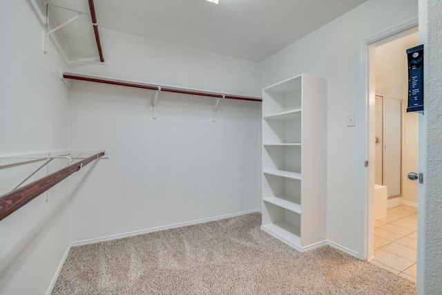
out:
M306 251L326 240L327 82L311 75L262 91L262 226Z

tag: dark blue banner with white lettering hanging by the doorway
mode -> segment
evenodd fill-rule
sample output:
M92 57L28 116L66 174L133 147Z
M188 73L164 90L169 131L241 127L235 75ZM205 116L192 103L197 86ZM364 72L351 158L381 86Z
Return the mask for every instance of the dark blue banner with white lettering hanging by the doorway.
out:
M423 45L407 49L408 107L407 112L423 113Z

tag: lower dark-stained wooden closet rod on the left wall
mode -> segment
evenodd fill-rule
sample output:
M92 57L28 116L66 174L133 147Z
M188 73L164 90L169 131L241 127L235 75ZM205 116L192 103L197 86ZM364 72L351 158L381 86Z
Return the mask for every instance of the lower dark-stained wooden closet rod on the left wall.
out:
M6 216L9 216L11 213L14 213L24 205L28 204L28 202L34 198L41 195L41 193L44 193L51 187L55 186L55 184L61 182L61 180L64 180L69 175L79 171L79 169L86 166L93 160L97 160L97 158L101 157L102 155L104 155L104 152L97 153L96 155L92 155L81 162L71 164L64 169L46 175L44 178L35 180L35 182L27 184L24 187L4 194L0 197L0 220Z

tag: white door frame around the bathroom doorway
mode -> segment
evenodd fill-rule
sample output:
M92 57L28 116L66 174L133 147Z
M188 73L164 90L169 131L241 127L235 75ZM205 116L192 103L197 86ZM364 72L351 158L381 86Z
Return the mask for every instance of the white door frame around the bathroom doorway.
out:
M397 39L399 34L408 34L408 30L418 26L418 17L412 17L390 28L377 32L361 41L361 97L364 97L363 115L365 116L365 198L363 202L363 226L358 258L370 260L374 254L374 46ZM371 75L370 75L371 74Z

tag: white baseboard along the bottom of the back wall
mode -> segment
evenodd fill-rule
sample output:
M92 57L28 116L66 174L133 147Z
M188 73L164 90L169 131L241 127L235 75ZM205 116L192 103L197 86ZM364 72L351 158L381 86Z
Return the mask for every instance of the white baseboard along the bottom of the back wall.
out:
M232 218L232 217L236 217L236 216L242 216L242 215L246 215L246 214L250 214L250 213L257 213L257 212L260 212L260 210L256 209L256 210L244 211L244 212L239 212L239 213L227 214L227 215L223 215L223 216L216 216L216 217L211 217L211 218L203 218L203 219L189 221L189 222L175 223L174 225L166 225L164 227L153 227L151 229L142 229L140 231L131 231L131 232L124 233L124 234L116 234L116 235L112 235L112 236L104 236L104 237L101 237L101 238L92 238L90 240L81 240L81 241L78 241L78 242L73 242L71 244L71 246L72 247L76 247L76 246L81 246L81 245L94 244L96 242L105 242L107 240L117 240L117 239L120 239L120 238L128 238L128 237L131 237L131 236L138 236L138 235L142 235L142 234L153 233L155 231L165 231L166 229L176 229L177 227L188 227L189 225L199 225L200 223L211 222L211 221L216 221L216 220L222 220L222 219L227 219L227 218Z

